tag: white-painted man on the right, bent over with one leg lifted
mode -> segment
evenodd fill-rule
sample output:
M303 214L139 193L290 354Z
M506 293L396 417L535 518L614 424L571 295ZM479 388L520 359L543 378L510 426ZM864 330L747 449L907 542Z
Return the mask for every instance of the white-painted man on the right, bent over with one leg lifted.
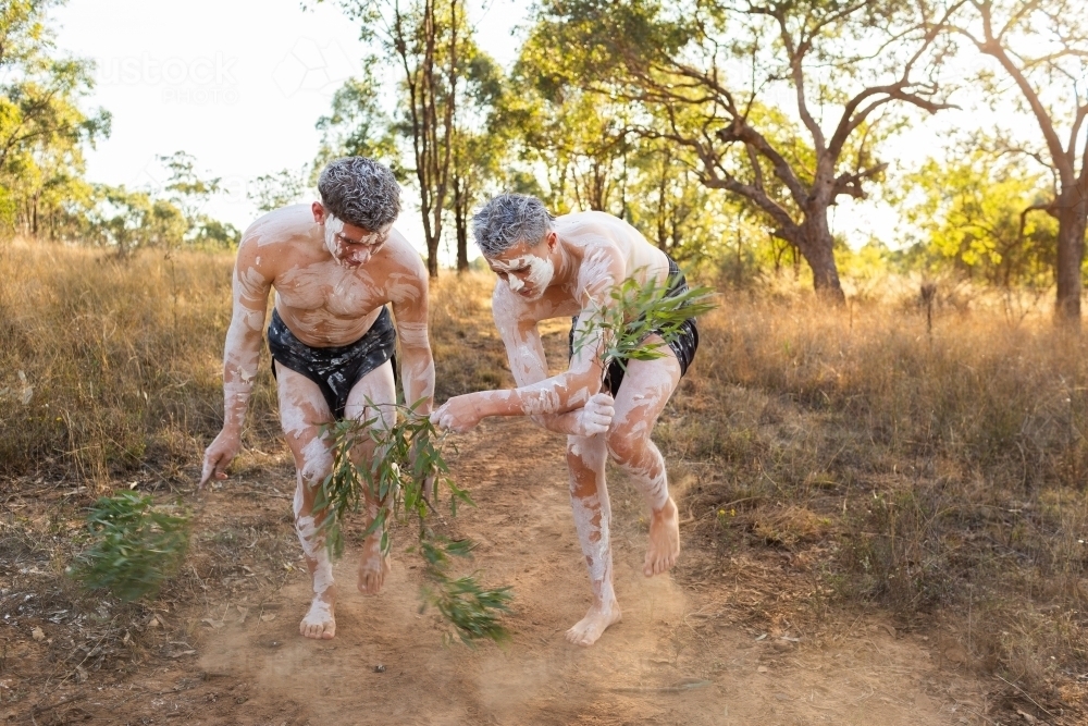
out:
M630 224L603 212L554 219L535 197L505 194L473 218L473 234L498 275L492 307L514 378L512 391L456 396L431 415L436 424L467 431L487 416L531 416L565 433L574 525L593 587L593 605L567 639L591 645L620 619L613 590L608 491L605 462L622 468L651 509L646 577L668 570L680 552L676 503L669 496L665 462L650 434L676 390L698 344L694 320L679 337L659 345L663 357L627 361L626 371L609 366L608 393L598 393L605 373L601 329L590 321L613 303L610 293L625 280L670 283L669 295L687 285L676 263ZM574 316L567 372L548 378L537 323ZM573 342L578 337L582 343ZM576 350L577 348L577 350ZM613 398L615 396L615 398Z

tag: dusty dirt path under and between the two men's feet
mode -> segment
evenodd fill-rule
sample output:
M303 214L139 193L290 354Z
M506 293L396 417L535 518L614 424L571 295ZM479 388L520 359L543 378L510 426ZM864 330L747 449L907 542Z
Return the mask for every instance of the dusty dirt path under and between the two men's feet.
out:
M591 649L569 645L564 630L588 607L589 587L561 441L508 420L458 445L455 473L479 504L458 517L459 531L479 542L477 563L490 582L515 586L512 642L443 648L435 616L417 612L412 556L396 558L381 595L363 598L349 553L336 567L335 640L298 637L308 588L294 577L263 606L265 620L254 613L240 625L205 628L194 644L203 680L183 678L186 688L153 699L148 715L277 725L984 723L970 684L950 682L920 641L861 625L823 650L759 638L718 622L732 586L696 592L643 577L640 508L616 476L623 622ZM178 674L162 675L169 687Z

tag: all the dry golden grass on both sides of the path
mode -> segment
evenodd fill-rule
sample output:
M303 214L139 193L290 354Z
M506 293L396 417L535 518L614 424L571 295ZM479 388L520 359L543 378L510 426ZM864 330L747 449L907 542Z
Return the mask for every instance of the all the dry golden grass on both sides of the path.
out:
M0 477L20 482L16 497L40 488L35 477L87 484L86 501L129 478L191 484L222 420L231 264L228 255L120 261L0 246ZM491 284L447 274L432 287L440 401L510 384ZM693 482L681 501L684 562L702 539L719 562L803 575L794 602L811 617L891 612L902 627L936 631L952 663L1040 699L1079 693L1085 343L1055 332L1030 299L949 286L929 333L916 287L866 284L843 310L767 288L726 296L703 321L695 366L657 431L673 479ZM566 350L560 323L545 331L553 364ZM286 460L267 365L246 436ZM5 515L0 550L11 567L32 563L60 582L78 512L48 501ZM268 562L252 567L285 567L290 538L273 529L238 522L198 539L176 595L199 592L200 578L245 578L202 558L235 539L271 538ZM764 566L779 561L784 569ZM694 577L684 566L679 577Z

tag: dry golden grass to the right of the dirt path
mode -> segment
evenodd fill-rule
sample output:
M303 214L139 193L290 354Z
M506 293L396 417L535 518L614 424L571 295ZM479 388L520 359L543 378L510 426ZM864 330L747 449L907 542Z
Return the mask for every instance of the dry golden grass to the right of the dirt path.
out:
M959 294L931 333L913 297L729 296L658 431L720 552L778 550L816 610L939 623L953 663L1054 693L1088 667L1088 350Z

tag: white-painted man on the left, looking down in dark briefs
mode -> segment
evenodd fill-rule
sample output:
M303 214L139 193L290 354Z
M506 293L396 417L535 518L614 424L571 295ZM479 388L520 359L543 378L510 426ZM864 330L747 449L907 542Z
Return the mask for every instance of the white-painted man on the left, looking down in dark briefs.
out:
M426 335L426 270L419 254L393 229L400 188L392 172L362 157L331 162L318 182L321 201L284 207L246 230L234 269L234 316L223 361L223 430L205 454L200 485L225 479L240 450L242 424L261 347L268 296L275 288L269 349L280 418L295 457L295 528L313 585L299 624L307 638L329 639L333 616L332 564L321 520L312 514L317 488L332 469L321 427L336 419L395 421L393 350L400 340L405 399L431 410L434 361ZM391 304L396 325L385 305ZM374 407L368 405L372 403ZM355 454L369 460L373 444ZM378 515L368 502L367 525ZM381 531L366 539L358 588L374 594L388 563Z

